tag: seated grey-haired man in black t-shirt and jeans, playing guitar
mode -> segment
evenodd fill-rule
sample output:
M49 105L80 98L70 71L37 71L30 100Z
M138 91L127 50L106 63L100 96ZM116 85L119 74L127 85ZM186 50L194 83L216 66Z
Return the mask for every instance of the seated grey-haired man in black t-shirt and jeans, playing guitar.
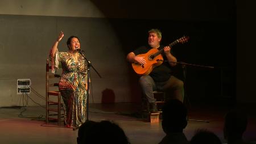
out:
M167 99L178 99L183 102L183 81L171 74L171 67L176 65L177 59L171 54L170 46L160 45L161 39L162 33L159 29L151 29L148 31L148 45L135 49L126 57L129 62L138 63L143 67L143 65L146 65L148 57L138 56L138 54L147 53L150 49L164 49L162 65L154 67L150 74L142 75L139 78L143 95L150 103L151 112L157 111L153 91L166 91ZM171 98L168 98L168 96L171 96Z

